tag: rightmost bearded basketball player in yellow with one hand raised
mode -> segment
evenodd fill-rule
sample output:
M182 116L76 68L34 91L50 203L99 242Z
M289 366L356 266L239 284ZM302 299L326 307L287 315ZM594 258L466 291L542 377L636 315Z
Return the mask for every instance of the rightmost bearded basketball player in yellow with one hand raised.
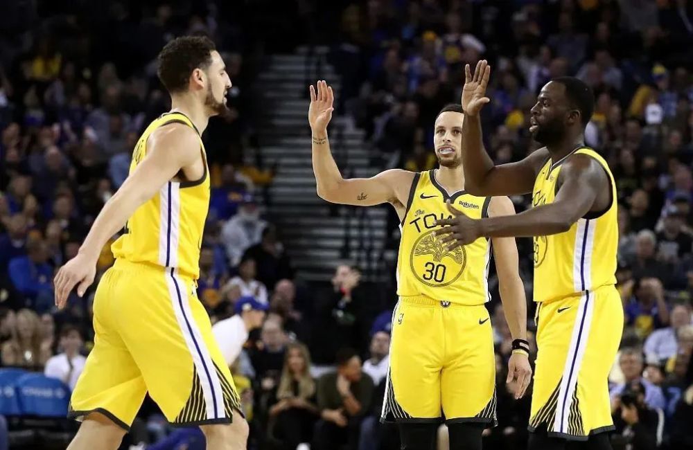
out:
M512 217L478 220L455 212L448 248L480 237L534 237L534 300L538 356L529 419L530 450L563 449L565 440L611 449L613 429L607 377L623 329L615 288L618 244L615 182L608 165L586 147L594 109L589 87L577 78L547 83L532 107L529 132L545 145L517 163L493 165L482 144L479 111L491 70L466 68L462 160L475 195L532 192L533 208Z

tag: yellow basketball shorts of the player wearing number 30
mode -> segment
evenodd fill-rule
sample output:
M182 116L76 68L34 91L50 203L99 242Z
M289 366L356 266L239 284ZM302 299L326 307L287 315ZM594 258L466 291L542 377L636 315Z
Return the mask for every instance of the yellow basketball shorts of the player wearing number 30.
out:
M426 296L400 298L392 316L381 421L495 425L489 312Z

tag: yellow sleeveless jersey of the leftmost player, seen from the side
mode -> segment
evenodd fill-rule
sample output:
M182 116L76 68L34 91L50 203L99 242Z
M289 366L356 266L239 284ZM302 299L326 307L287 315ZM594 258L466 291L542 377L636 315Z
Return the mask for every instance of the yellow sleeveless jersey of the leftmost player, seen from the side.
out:
M191 120L181 113L167 113L157 118L137 141L130 173L146 156L149 136L170 123L184 123L198 132ZM116 258L175 268L184 276L198 278L202 231L209 209L209 170L202 139L200 153L204 161L202 178L168 181L157 195L137 208L125 224L125 233L111 247Z

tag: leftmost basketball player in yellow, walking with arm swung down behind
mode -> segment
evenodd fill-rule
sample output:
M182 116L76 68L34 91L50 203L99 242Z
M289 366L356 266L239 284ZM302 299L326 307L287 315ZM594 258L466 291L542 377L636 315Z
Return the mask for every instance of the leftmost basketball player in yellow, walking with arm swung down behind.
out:
M200 134L211 116L226 113L231 81L205 37L166 44L158 75L171 111L139 138L130 176L55 276L62 308L73 287L84 295L101 249L125 225L112 245L116 262L96 289L94 350L69 410L83 422L69 449L118 448L147 392L174 426L200 426L208 449L245 449L234 381L195 294L209 206Z

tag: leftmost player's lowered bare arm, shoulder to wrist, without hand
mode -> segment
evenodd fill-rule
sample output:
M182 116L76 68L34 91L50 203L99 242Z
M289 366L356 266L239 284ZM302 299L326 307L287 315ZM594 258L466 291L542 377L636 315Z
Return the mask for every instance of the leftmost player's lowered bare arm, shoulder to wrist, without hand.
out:
M181 168L200 157L198 136L182 124L167 125L154 132L147 148L145 158L101 209L80 253L96 260L109 237L123 228L141 204L159 192Z

